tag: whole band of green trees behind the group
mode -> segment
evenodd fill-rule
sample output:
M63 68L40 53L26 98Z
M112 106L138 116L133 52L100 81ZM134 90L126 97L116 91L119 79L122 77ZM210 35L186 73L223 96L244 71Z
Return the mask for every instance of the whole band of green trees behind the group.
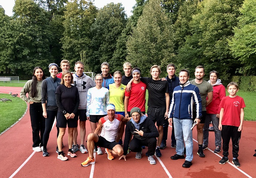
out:
M1 75L31 78L35 66L48 74L49 63L63 59L95 73L105 61L112 74L126 61L143 76L154 64L165 76L168 63L192 74L203 65L222 80L256 73L256 0L136 0L130 17L124 10L91 0L16 0L10 17L0 6Z

